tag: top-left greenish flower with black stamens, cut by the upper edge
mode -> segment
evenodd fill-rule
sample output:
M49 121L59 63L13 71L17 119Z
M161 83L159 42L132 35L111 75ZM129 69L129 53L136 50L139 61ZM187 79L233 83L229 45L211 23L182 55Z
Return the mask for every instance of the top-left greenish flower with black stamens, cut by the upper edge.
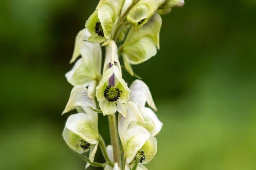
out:
M85 27L92 34L89 37L90 42L101 43L110 40L112 28L121 11L123 2L124 0L100 0L96 10L85 23Z

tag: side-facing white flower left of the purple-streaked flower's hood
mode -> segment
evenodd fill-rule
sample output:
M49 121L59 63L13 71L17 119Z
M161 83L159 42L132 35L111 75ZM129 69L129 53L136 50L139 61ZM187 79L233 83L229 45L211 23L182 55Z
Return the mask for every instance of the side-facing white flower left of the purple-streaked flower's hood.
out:
M87 41L89 36L91 34L85 28L77 34L70 63L73 63L80 55L82 57L65 76L71 85L88 86L88 94L92 98L95 96L97 82L101 78L102 53L99 43L93 44Z

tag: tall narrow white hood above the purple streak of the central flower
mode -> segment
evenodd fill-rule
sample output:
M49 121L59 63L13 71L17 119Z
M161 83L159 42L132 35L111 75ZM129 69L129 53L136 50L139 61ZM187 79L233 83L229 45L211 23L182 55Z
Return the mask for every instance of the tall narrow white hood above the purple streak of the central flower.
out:
M112 65L116 65L119 71L122 72L121 65L117 55L117 46L115 41L110 41L108 46L106 47L106 55L105 55L103 72L105 72L105 70L109 68L109 63L111 63Z

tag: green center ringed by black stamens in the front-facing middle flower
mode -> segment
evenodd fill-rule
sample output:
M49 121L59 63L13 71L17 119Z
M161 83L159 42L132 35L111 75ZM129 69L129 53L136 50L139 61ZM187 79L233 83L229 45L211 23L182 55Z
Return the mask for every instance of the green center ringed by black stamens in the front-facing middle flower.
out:
M108 85L103 92L106 100L110 102L117 101L122 93L117 87L111 85Z

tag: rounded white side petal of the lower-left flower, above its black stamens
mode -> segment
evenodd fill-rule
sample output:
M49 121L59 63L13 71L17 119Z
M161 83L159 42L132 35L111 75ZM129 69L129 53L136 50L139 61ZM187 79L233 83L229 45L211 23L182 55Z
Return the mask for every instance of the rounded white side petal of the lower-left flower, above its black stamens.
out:
M92 122L84 113L70 115L65 127L90 144L98 143L98 129L93 129Z

